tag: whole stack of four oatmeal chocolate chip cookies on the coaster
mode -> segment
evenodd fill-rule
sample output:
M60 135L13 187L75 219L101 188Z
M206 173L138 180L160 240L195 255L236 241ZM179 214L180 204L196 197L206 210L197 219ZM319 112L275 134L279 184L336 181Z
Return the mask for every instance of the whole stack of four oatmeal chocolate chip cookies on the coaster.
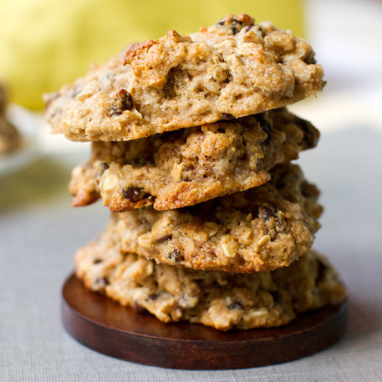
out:
M229 15L134 44L47 96L53 131L92 141L73 206L112 211L76 254L78 278L138 313L224 331L344 299L310 249L319 191L290 163L319 133L285 106L322 77L307 42Z

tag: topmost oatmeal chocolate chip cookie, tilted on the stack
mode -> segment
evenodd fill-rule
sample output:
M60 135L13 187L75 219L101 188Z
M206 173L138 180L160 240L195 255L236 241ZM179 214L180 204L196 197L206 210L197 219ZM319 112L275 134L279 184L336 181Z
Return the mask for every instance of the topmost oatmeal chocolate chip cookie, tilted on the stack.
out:
M94 65L45 97L47 119L70 140L135 140L286 106L322 90L322 76L304 40L229 15Z

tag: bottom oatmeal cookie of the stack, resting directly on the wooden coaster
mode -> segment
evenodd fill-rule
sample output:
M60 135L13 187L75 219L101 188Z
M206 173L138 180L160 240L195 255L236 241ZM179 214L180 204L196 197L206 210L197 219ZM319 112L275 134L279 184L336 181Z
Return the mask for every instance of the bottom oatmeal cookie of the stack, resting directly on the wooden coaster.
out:
M76 274L91 290L139 313L222 331L281 326L346 294L333 267L314 251L274 272L203 272L121 251L108 232L78 250Z

